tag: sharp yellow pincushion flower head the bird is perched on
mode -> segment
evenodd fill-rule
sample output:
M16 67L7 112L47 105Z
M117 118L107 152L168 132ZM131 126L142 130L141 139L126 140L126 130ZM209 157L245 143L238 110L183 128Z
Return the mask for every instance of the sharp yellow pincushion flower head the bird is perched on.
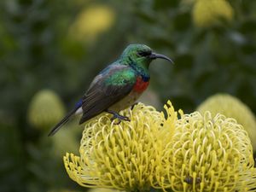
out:
M174 110L168 119L177 119ZM170 114L172 113L172 114ZM131 122L114 125L111 115L102 114L84 127L80 157L64 157L69 177L85 187L114 188L126 191L148 191L150 179L160 164L162 140L170 140L172 127L166 126L163 113L141 103L122 113ZM159 139L158 135L169 133Z

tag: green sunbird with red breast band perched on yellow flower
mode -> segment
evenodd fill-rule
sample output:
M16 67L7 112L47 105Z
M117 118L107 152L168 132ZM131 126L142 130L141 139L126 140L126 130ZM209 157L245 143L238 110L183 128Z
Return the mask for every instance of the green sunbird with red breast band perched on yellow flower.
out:
M149 64L155 59L164 59L173 63L166 55L154 53L145 44L130 44L117 61L105 67L90 83L84 96L77 102L69 113L55 125L48 136L53 136L73 115L81 115L79 125L96 115L107 112L113 117L129 121L128 117L119 111L133 107L144 90L147 89L150 74Z

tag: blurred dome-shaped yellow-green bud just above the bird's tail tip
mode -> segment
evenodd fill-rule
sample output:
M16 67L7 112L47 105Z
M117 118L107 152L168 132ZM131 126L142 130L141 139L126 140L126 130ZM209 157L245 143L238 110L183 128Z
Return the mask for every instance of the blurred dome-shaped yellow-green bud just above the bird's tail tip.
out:
M47 129L55 125L65 114L59 96L52 90L40 90L32 97L28 108L28 121L38 129Z

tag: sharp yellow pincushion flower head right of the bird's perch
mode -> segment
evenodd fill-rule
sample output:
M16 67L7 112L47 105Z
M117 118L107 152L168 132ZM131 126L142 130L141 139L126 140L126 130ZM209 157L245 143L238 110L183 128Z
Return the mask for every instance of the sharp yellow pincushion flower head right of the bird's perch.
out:
M173 191L247 191L256 170L247 131L224 115L185 114L176 122L156 172L156 188ZM165 170L163 174L162 170ZM255 190L254 190L255 191Z

